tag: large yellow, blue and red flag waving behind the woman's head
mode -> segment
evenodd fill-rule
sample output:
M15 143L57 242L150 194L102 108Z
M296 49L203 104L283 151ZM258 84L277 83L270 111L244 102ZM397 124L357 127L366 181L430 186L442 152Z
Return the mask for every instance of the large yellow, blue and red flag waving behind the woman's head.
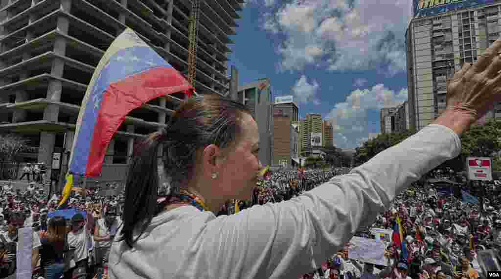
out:
M130 28L99 61L77 120L69 173L98 176L106 148L125 116L142 104L193 87Z

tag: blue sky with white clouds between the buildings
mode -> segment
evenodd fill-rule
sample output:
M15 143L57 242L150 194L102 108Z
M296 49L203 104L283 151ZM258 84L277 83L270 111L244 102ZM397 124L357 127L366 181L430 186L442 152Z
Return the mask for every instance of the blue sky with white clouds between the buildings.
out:
M300 117L334 124L339 148L379 132L379 109L407 100L404 35L411 0L249 0L229 45L239 84L270 78Z

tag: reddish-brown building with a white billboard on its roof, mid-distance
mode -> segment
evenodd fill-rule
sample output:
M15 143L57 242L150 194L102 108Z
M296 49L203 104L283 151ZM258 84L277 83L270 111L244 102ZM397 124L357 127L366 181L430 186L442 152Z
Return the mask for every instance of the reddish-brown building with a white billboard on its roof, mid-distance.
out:
M273 165L291 164L297 153L298 106L294 102L273 105Z

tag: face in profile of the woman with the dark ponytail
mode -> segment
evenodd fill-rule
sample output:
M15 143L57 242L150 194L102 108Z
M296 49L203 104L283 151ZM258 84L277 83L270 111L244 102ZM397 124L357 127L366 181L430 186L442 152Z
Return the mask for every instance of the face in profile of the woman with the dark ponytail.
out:
M226 196L246 200L252 197L253 189L258 182L259 162L259 130L258 124L249 114L241 119L242 134L238 142L230 147L219 173L219 187Z

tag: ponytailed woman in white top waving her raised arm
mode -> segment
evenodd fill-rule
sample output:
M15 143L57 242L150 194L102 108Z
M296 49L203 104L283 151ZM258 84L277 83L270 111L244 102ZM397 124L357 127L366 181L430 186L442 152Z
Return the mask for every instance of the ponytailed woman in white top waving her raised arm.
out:
M258 182L258 125L236 101L184 100L132 156L110 278L275 279L314 270L412 182L460 154L459 135L501 99L500 50L501 39L465 63L448 82L447 109L401 143L290 201L229 216L215 214L227 200L249 199ZM159 177L171 180L171 192L157 204Z

